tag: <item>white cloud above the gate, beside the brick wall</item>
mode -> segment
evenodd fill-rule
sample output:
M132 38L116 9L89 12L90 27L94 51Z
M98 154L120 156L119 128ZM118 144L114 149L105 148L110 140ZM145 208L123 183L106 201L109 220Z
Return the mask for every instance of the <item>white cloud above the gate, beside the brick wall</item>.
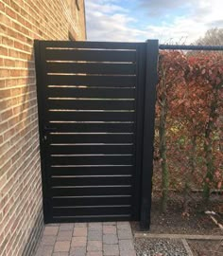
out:
M87 0L88 40L99 41L139 41L145 31L132 28L129 24L136 20L111 1Z

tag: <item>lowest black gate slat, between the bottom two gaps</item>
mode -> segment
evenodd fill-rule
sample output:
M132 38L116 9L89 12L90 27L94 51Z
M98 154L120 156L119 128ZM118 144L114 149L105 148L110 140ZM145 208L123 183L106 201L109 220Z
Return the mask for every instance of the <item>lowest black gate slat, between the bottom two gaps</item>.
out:
M54 216L130 214L131 207L53 208Z

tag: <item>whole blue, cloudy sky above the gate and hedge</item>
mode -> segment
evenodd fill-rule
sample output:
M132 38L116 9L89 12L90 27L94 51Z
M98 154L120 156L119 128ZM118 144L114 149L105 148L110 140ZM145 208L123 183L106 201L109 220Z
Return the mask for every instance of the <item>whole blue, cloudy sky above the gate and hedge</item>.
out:
M223 0L85 0L87 40L193 44L223 27Z

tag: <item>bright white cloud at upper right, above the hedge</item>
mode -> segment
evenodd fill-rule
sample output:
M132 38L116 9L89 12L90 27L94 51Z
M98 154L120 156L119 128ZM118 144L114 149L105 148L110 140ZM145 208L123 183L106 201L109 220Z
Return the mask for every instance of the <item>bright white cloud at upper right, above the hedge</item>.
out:
M207 29L222 27L223 15L221 0L194 0L187 1L191 11L183 16L176 16L171 23L163 22L160 26L148 26L148 30L157 32L157 37L163 42L193 43L203 36Z

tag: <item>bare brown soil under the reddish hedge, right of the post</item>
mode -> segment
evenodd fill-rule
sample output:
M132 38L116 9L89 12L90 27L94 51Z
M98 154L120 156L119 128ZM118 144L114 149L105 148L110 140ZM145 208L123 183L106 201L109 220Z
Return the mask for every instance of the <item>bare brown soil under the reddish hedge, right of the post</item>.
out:
M205 214L205 210L214 210L218 213L223 224L222 195L214 194L210 203L203 204L200 194L193 194L193 200L188 203L187 212L183 211L183 198L180 194L172 193L168 209L165 214L161 210L161 203L158 196L153 196L151 210L151 226L149 233L174 233L174 234L205 234L223 235L211 218ZM139 231L139 224L132 223L133 231Z

